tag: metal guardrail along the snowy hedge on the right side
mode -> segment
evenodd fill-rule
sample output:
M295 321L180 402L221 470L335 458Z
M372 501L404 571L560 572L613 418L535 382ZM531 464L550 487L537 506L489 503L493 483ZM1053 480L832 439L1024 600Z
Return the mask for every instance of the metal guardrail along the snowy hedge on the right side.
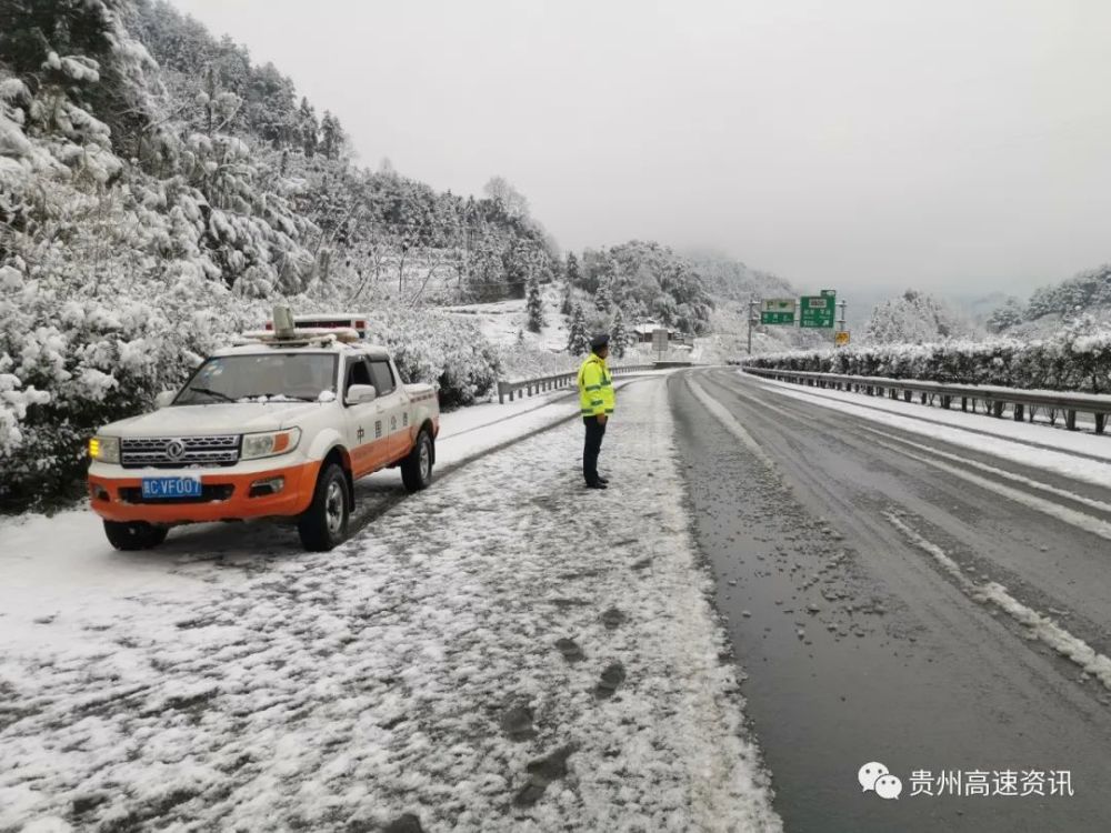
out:
M1102 434L1111 414L1111 397L1099 393L1072 393L1069 391L1033 391L1021 388L998 388L980 384L948 384L945 382L927 382L917 379L891 379L889 377L855 377L844 373L817 373L803 370L780 370L778 368L749 368L741 370L758 377L767 377L783 382L798 382L812 388L830 388L863 392L868 395L887 395L907 402L919 395L922 404L932 403L935 399L944 409L960 401L961 410L977 412L977 403L983 402L984 413L998 419L1004 416L1010 405L1011 418L1015 422L1029 419L1033 422L1034 412L1042 408L1049 414L1050 423L1057 423L1058 413L1064 414L1064 426L1077 430L1077 414L1090 413L1095 419L1095 433Z

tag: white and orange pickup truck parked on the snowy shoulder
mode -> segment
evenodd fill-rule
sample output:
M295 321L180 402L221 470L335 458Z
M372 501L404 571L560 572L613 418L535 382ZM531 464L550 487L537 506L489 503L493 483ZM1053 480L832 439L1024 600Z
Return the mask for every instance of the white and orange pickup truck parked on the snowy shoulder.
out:
M431 482L432 385L404 384L354 329L287 321L213 353L157 411L89 441L90 500L113 546L157 546L179 524L277 518L296 520L307 549L330 550L347 536L359 478L400 468L411 492Z

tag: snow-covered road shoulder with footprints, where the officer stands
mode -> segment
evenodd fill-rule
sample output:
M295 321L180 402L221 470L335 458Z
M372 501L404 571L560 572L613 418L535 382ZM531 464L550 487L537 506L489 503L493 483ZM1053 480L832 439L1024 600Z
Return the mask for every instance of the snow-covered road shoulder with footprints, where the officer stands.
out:
M0 642L0 830L778 830L663 383L622 392L609 492L581 486L581 430L329 554L228 581L148 553L43 608Z

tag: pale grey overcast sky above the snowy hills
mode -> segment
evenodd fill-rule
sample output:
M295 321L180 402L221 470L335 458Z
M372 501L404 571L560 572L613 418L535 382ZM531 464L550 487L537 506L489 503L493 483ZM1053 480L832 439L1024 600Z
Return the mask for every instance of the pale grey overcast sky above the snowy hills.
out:
M712 247L800 289L1111 260L1107 0L173 0L361 163L501 174L564 248Z

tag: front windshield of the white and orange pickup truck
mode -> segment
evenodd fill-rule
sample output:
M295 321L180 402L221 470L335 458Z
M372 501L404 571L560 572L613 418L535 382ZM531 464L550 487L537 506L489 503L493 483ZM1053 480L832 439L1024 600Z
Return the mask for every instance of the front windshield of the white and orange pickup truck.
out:
M328 395L331 394L331 395ZM336 357L328 353L221 355L206 361L173 401L327 401L336 395Z

